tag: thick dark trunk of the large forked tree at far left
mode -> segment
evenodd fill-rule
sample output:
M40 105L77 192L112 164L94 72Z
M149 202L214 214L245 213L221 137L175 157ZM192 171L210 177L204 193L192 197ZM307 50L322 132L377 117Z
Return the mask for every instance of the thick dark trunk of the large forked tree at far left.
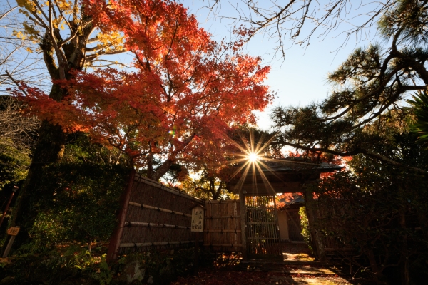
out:
M71 25L78 25L71 23ZM74 28L78 28L77 26ZM63 46L63 51L58 54L54 48L56 38L51 38L49 31L46 31L41 43L44 63L51 79L71 79L73 75L69 73L71 68L81 70L85 63L86 41L93 30L92 25L82 28L81 33ZM60 38L61 39L61 38ZM64 61L66 58L66 62ZM58 61L58 63L56 63ZM66 96L67 91L58 84L52 84L49 98L61 102ZM20 225L21 231L16 237L14 248L18 248L23 242L29 239L28 231L32 227L34 220L41 207L44 206L44 198L51 196L52 193L46 192L39 185L40 178L44 174L44 166L60 162L63 156L66 142L66 133L63 132L61 125L53 125L44 120L39 129L39 140L36 144L29 172L24 185L21 187L20 195L17 199L14 212L12 214L11 226Z

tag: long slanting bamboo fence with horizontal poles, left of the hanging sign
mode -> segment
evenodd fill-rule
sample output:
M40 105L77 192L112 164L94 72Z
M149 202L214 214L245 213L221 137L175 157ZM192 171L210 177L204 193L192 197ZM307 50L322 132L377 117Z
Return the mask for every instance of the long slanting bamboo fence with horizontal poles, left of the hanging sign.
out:
M119 252L182 247L195 243L190 231L192 210L203 204L161 183L136 175Z

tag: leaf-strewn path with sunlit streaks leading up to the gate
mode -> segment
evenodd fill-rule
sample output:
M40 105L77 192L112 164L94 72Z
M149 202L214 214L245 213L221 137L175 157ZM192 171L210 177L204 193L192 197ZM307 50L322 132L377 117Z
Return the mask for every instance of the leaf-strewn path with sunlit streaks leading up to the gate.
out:
M284 243L283 259L241 261L221 255L213 268L200 269L199 276L178 279L172 285L367 285L352 280L335 267L324 267L305 244ZM230 255L232 257L232 255Z

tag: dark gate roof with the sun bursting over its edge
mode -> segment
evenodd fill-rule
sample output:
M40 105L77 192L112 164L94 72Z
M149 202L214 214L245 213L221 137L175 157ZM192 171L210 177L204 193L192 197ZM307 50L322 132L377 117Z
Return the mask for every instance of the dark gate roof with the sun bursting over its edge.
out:
M250 165L247 175L243 177L246 167L235 175L227 188L234 194L241 190L246 195L275 195L276 193L303 192L303 185L315 182L323 172L334 172L343 168L341 165L307 163L293 160L258 160L258 166ZM240 165L242 167L243 165Z

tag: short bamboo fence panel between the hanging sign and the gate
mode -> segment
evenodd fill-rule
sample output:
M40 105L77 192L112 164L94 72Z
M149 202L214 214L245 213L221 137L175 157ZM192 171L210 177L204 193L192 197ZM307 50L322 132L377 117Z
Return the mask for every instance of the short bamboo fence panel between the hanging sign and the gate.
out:
M238 200L205 202L204 246L215 252L242 252Z

